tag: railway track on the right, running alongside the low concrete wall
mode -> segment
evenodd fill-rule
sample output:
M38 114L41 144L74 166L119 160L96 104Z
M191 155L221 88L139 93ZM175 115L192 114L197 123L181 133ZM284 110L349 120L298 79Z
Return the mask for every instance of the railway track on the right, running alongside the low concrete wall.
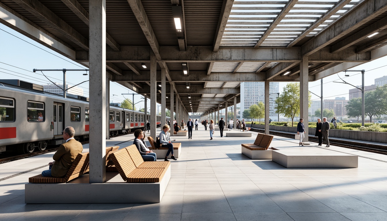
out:
M257 129L257 128L251 128L250 130L253 132L260 132L260 133L265 132L263 129ZM269 134L277 135L281 137L293 138L293 139L295 135L294 133L279 132L279 131L270 131ZM308 139L313 142L319 142L318 137L309 136ZM329 138L329 143L334 146L387 155L387 146L384 146L384 145L362 143L360 141L340 140L337 138Z

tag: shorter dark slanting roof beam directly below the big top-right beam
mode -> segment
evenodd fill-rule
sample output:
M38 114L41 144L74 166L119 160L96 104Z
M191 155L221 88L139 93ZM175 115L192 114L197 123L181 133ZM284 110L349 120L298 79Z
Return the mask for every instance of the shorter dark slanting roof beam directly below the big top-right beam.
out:
M344 50L344 48L347 48L355 43L358 43L359 41L365 39L370 34L373 34L375 32L380 32L386 28L387 28L387 17L384 17L379 21L361 29L357 33L352 34L348 38L343 39L342 41L336 43L335 45L330 46L330 51L332 53L336 53L341 50Z

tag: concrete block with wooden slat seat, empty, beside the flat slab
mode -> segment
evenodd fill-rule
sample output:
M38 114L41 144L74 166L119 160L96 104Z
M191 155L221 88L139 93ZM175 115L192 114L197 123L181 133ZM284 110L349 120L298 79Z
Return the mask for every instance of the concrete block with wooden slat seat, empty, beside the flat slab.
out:
M269 149L272 135L258 134L253 144L241 144L242 154L251 159L272 159L272 150Z

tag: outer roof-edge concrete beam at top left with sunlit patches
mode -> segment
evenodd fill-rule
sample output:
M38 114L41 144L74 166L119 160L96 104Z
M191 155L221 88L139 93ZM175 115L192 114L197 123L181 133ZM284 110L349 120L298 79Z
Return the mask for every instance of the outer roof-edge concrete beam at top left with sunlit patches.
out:
M14 29L30 39L50 48L64 57L75 60L75 50L48 31L29 21L22 15L0 3L0 23Z

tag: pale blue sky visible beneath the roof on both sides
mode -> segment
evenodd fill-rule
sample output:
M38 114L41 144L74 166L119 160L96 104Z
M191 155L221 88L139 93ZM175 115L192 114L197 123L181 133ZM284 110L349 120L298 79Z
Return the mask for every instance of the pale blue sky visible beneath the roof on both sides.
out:
M32 82L35 84L47 84L48 80L41 75L41 73L33 73L33 69L84 69L86 67L70 60L55 51L40 45L36 41L33 41L26 36L10 29L3 24L0 24L0 79L20 79L23 81ZM8 33L7 33L8 32ZM9 34L10 33L10 34ZM13 34L14 36L12 36ZM15 37L16 36L16 37ZM20 38L20 39L19 39ZM24 40L24 41L23 41ZM43 49L43 50L42 50ZM15 67L12 67L12 66ZM365 74L365 85L374 84L374 79L387 75L386 67L387 57L379 58L372 62L359 65L353 68L354 70L365 69L370 70ZM381 68L379 68L381 67ZM25 69L25 70L22 70ZM375 69L375 70L371 70ZM87 81L88 76L82 75L84 72L67 72L67 82L71 85L79 84L82 81ZM350 72L350 77L346 78L346 81L353 85L361 85L361 74L356 72ZM51 81L62 82L62 72L45 72L45 75L50 77ZM339 73L341 77L344 73ZM324 78L324 98L334 99L336 96L346 97L348 99L348 90L352 89L352 86L334 83L332 81L339 80L337 74ZM280 93L287 82L280 82ZM111 82L110 84L110 100L113 102L121 102L124 98L122 93L133 93L127 88ZM84 96L89 96L88 82L80 85L84 90ZM310 82L309 90L315 94L320 95L320 81ZM113 96L113 94L117 96ZM126 98L132 99L132 95L125 95ZM134 103L139 102L142 96L135 95ZM312 99L319 99L317 96L312 95ZM144 102L140 102L137 108L144 107ZM149 101L148 101L149 107Z

